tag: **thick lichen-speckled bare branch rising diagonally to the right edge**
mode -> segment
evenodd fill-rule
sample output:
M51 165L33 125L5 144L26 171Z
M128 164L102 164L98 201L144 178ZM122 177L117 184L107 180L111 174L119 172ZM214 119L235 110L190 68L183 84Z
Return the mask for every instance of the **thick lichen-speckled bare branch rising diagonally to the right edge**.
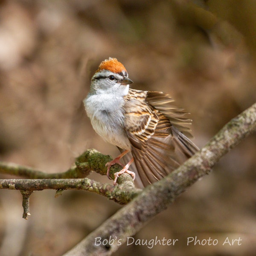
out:
M157 213L200 177L244 137L256 131L256 104L232 119L201 151L162 180L147 186L130 204L120 209L64 256L111 255ZM108 241L102 243L102 241Z

